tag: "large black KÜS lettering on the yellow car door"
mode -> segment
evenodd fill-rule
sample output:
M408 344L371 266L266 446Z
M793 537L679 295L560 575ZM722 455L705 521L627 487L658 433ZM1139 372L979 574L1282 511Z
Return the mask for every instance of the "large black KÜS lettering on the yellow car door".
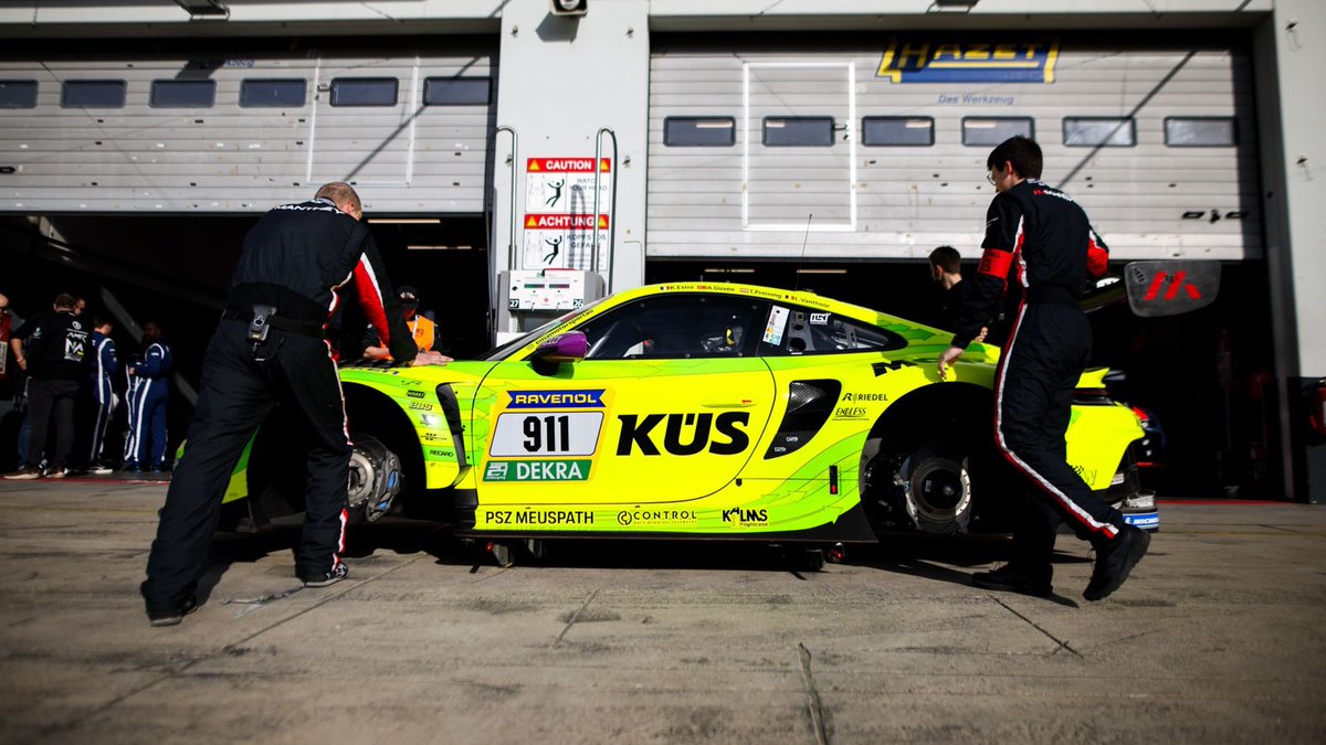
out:
M751 423L747 411L724 411L715 416L704 414L619 414L622 433L617 439L617 455L662 455L659 451L659 424L663 451L687 456L708 451L711 455L737 455L751 447L745 428Z

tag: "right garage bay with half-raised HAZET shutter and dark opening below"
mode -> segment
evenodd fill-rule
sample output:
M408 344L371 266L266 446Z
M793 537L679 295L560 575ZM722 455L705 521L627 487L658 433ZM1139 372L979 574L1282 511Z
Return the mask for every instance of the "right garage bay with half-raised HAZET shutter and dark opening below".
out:
M927 256L980 256L989 150L1045 148L1045 180L1128 261L1223 268L1170 318L1093 312L1095 365L1152 427L1166 494L1278 489L1257 115L1240 33L663 34L650 68L647 281L814 289L937 322ZM1122 298L1119 298L1122 300ZM996 337L998 330L994 331ZM1207 361L1215 361L1215 365ZM1181 382L1180 382L1181 380Z

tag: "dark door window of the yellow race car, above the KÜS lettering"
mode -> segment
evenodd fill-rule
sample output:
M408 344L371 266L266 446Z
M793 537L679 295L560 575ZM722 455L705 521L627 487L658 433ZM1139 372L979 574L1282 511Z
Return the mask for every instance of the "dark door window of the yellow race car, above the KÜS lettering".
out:
M748 357L768 304L747 297L662 294L640 298L579 327L586 359Z

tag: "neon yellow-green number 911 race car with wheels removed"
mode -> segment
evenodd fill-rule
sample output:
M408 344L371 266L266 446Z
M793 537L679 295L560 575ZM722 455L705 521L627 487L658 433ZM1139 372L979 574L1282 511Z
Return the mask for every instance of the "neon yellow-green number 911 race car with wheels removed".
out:
M993 445L998 347L939 378L951 334L805 292L651 285L487 357L341 370L365 520L446 508L460 536L875 541L1006 529L1024 488ZM1136 415L1082 376L1069 461L1134 524ZM227 501L300 509L280 412ZM273 506L276 505L276 506Z

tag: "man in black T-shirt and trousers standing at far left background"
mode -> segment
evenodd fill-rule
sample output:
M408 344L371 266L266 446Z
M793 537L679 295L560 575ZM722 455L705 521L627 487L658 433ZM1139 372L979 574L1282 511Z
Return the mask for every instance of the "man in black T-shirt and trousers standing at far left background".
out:
M54 310L29 318L13 331L9 349L13 362L28 374L28 415L32 437L19 469L5 479L40 479L42 455L48 460L48 479L64 479L69 451L74 443L74 402L78 382L88 374L88 349L91 342L86 326L74 315L74 298L56 296ZM54 448L48 435L54 427Z

